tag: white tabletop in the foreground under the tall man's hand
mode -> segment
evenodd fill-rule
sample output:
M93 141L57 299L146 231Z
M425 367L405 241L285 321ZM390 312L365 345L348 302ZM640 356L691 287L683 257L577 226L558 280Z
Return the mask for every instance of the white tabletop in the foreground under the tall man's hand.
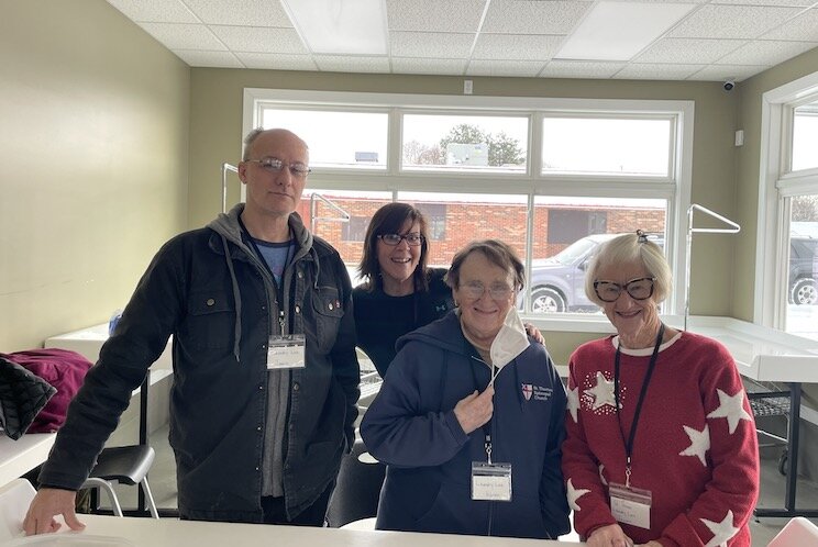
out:
M132 518L80 515L86 524L82 533L66 533L13 539L8 547L24 545L47 547L136 546L164 547L196 545L197 547L542 547L581 546L576 542L513 539L505 537L460 536L454 534L418 534L409 532L374 532L308 526L270 526L264 524L231 524L175 518ZM69 542L71 539L71 542ZM59 540L59 542L57 542Z

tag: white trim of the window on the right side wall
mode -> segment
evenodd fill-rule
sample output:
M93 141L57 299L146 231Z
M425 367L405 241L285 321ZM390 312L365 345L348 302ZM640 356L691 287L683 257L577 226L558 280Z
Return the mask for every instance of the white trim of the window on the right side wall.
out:
M761 161L759 168L759 217L755 254L753 322L782 328L786 301L776 288L787 284L789 208L785 200L804 191L818 192L818 169L788 170L788 109L818 93L818 72L765 92L761 99ZM772 259L771 259L772 258Z

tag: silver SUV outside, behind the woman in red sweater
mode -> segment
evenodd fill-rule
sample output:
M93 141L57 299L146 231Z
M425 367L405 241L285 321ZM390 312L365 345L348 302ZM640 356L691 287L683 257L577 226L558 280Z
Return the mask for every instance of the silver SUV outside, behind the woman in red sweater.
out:
M585 295L585 270L595 249L620 234L586 235L572 243L556 255L531 261L531 311L546 312L595 312L599 310ZM664 235L649 236L664 246Z

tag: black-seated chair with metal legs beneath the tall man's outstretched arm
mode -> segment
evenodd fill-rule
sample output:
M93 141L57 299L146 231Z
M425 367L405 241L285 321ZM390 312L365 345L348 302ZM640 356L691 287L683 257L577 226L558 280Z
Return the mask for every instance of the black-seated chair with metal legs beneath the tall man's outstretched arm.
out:
M95 488L108 492L111 509L117 516L123 516L119 498L113 491L113 483L140 484L145 494L145 502L154 518L159 517L151 487L147 483L147 471L153 465L156 453L147 445L117 446L104 448L97 458L97 465L82 488Z

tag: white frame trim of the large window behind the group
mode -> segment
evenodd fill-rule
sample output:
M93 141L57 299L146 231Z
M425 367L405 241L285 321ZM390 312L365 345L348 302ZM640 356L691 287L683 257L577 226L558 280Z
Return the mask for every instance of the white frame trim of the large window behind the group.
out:
M541 125L543 111L549 113L601 113L601 114L635 114L640 116L674 115L676 149L673 154L672 172L677 174L678 183L672 178L644 177L644 186L631 182L617 182L607 177L583 177L583 185L597 192L597 196L618 198L621 191L628 189L637 198L667 199L672 206L667 211L666 223L672 227L673 236L665 242L668 257L672 258L674 293L668 298L665 308L667 314L683 315L685 310L686 280L686 233L687 209L690 204L690 187L693 178L693 134L694 134L694 101L673 100L631 100L631 99L566 99L566 98L532 98L532 97L479 97L479 96L443 96L443 94L405 94L405 93L367 93L367 92L336 92L316 90L285 90L245 88L242 115L242 136L258 126L261 120L261 104L280 102L281 105L327 107L335 110L366 109L368 111L389 112L399 120L396 109L417 109L419 112L464 113L464 111L479 110L498 115L515 115L529 113L532 116L531 135L529 138L529 170L526 174L480 174L480 177L464 175L473 182L471 188L460 186L446 188L440 182L440 172L400 171L401 127L399 123L391 123L387 143L388 167L382 170L317 170L310 175L310 186L313 188L349 189L369 191L451 191L456 193L496 193L502 188L504 193L548 196L576 196L576 180L574 176L555 176L540 174L541 141L535 127ZM443 110L441 110L443 109ZM457 176L446 174L446 178L456 179ZM399 188L398 188L399 186ZM244 197L242 196L242 199ZM572 320L572 315L575 315ZM608 323L604 316L588 317L584 314L560 314L553 319L554 330L564 331L567 321L573 325L567 330L593 330L607 332ZM567 317L566 317L567 316ZM552 320L535 316L538 323L543 320L551 327ZM589 331L590 332L590 331Z

